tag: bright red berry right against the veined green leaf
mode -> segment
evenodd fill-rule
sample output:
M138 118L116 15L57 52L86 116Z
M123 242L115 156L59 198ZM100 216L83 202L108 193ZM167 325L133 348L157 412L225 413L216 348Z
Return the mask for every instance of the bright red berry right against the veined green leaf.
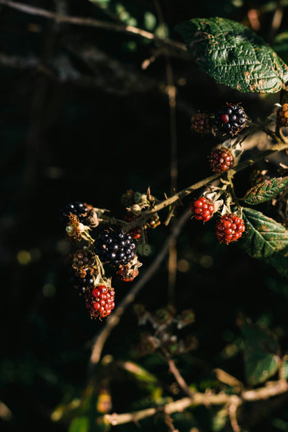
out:
M244 231L244 220L235 213L223 215L216 222L216 237L220 243L235 242L242 236Z

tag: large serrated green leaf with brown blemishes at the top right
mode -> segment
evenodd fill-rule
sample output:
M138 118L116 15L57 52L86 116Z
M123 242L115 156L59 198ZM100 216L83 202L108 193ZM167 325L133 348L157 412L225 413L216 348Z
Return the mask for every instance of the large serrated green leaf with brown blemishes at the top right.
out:
M242 24L219 17L176 26L188 53L216 82L249 93L276 93L288 81L288 66L264 39Z

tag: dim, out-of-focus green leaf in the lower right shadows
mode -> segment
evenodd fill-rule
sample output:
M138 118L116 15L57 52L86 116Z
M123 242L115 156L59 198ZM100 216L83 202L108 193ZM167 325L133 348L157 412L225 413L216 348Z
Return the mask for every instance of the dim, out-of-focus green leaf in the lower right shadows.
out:
M245 377L253 386L272 377L280 366L280 347L273 333L260 325L244 320L241 325L244 335Z

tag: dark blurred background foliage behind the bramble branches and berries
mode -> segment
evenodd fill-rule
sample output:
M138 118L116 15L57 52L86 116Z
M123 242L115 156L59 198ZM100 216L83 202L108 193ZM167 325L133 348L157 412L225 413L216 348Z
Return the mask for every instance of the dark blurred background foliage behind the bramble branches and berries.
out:
M284 0L22 3L61 15L125 23L179 43L176 24L195 17L226 17L252 28L288 59ZM0 34L0 428L109 430L100 414L170 401L178 397L172 390L175 380L158 352L138 355L136 347L151 329L138 325L131 306L105 343L93 384L87 386L91 343L105 323L91 321L82 298L69 285L69 243L60 208L80 200L123 217L120 199L128 189L145 192L150 186L158 199L172 193L168 65L177 91L177 190L210 175L207 155L220 142L191 134L193 114L233 101L242 102L251 118L265 118L279 95L238 93L216 84L183 53L164 49L158 39L61 23L5 4L0 5ZM265 163L259 168L266 168ZM237 174L240 197L251 186L250 174ZM164 210L161 220L165 215ZM150 254L141 257L140 273L154 261L169 233L170 226L163 224L149 231ZM131 288L118 280L113 286L116 302ZM150 312L168 304L168 259L136 300ZM177 239L173 298L177 313L190 308L195 314L185 329L194 338L194 348L175 357L186 382L201 392L221 390L213 372L221 368L251 386L238 318L247 316L269 328L277 337L277 350L285 355L287 301L287 279L250 258L240 244L217 244L213 222L204 226L189 221ZM142 372L129 372L125 362L137 363ZM242 431L288 431L287 394L247 410ZM232 430L219 407L197 406L172 418L181 432ZM129 423L111 429L169 430L161 415L142 420L140 427Z

